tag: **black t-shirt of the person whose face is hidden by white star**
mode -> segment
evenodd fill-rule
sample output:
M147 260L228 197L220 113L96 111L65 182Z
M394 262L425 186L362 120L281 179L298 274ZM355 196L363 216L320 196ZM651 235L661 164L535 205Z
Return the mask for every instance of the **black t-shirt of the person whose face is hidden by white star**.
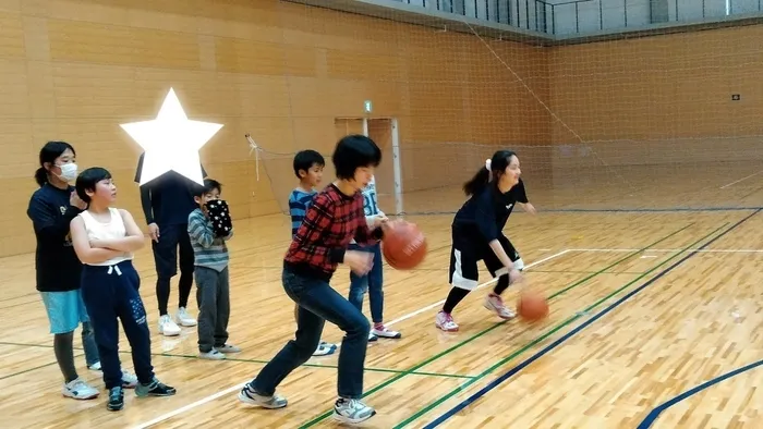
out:
M137 160L136 183L141 183L144 156L145 154L141 154ZM207 176L204 166L202 166L202 176ZM196 182L174 171L168 171L141 186L141 200L146 223L156 222L159 228L189 223L189 214L198 208L193 200L194 189L197 186Z

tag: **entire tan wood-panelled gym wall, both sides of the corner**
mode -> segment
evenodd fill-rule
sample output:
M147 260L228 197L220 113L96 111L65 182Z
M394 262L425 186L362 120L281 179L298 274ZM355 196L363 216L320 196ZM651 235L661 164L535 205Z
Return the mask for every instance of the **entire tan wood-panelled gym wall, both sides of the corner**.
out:
M170 86L191 119L225 125L202 159L237 219L276 213L284 197L257 181L244 134L269 151L329 154L335 119L363 117L366 99L399 120L407 192L460 183L484 157L470 143L522 146L533 188L550 192L580 182L578 167L596 187L620 183L618 164L758 162L762 36L538 48L277 0L0 0L0 184L12 201L0 256L34 249L25 211L48 139L73 143L82 168L110 169L120 206L141 219L140 149L119 124L155 118ZM441 143L456 145L429 145ZM289 163L270 168L274 187L293 183Z

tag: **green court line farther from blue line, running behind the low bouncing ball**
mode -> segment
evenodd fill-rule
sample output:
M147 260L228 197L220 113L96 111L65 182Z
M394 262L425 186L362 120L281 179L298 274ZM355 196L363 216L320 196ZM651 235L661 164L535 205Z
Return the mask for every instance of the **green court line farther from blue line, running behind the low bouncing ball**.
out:
M647 246L645 246L645 247L643 247L643 248L641 248L641 249L639 249L639 250L635 250L635 252L632 252L632 253L628 254L627 256L625 256L625 257L618 259L617 261L615 261L614 263L610 263L610 265L608 265L607 267L605 267L605 268L603 268L603 269L601 269L601 270L598 270L598 271L596 271L596 272L594 272L594 273L592 273L592 274L590 274L590 275L586 275L586 277L583 278L582 280L578 280L578 281L576 281L574 283L570 284L569 286L567 286L567 287L565 287L565 289L562 289L562 290L560 290L560 291L557 291L556 293L549 295L547 299L548 299L548 301L552 301L552 299L556 298L557 296L559 296L559 295L561 295L561 294L564 294L564 293L566 293L566 292L569 292L569 291L571 291L571 290L574 289L574 287L580 286L581 284L583 284L583 283L585 283L586 281L593 279L594 277L604 273L604 271L607 271L607 270L611 269L613 267L615 267L616 265L621 263L622 261L625 261L625 260L627 260L627 259L633 257L634 255L638 255L638 254L640 254L640 253L646 250L647 248L650 248L650 247L652 247L652 246L655 246L655 245L657 245L657 244L659 244L659 243L662 243L662 242L664 242L664 241L666 241L666 240L673 237L674 235L680 233L681 231L685 231L686 229L692 226L693 224L694 224L694 222L689 223L688 225L686 225L686 226L683 226L683 228L681 228L681 229L679 229L679 230L677 230L677 231L675 231L675 232L671 232L670 234L668 234L668 235L666 235L666 236L664 236L664 237L657 240L656 242L651 243L651 244L649 244ZM391 384L391 383L393 383L393 382L400 380L401 378L405 377L405 376L409 375L409 373L412 373L413 371L417 370L419 368L422 368L422 367L424 367L424 366L426 366L426 365L432 364L433 361L435 361L435 360L441 358L443 356L446 356L446 355L448 355L448 354L455 352L456 350L458 350L458 348L460 348L460 347L462 347L462 346L464 346L464 345L471 343L472 341L474 341L474 340L476 340L476 339L479 339L479 338L481 338L481 336L487 334L488 332L495 330L495 329L498 328L498 327L504 326L504 324L507 323L507 322L508 322L508 320L498 322L498 323L496 323L496 324L494 324L494 326L492 326L492 327L489 327L489 328L486 328L486 329L484 329L484 330L482 330L482 331L475 333L474 335L468 338L467 340L463 340L463 341L461 341L460 343L455 344L455 345L451 346L450 348L447 348L447 350L445 350L445 351L443 351L443 352L440 352L440 353L438 353L438 354L436 354L436 355L434 355L434 356L428 357L427 359L422 360L421 363L419 363L419 364L416 364L416 365L410 367L409 369L404 370L403 372L398 373L397 376L391 377L390 379L385 380L385 381L383 381L382 383L379 383L379 384L375 385L374 388L370 389L368 391L366 391L366 392L363 394L363 397L366 397L366 396L368 396L368 395L372 395L372 394L378 392L378 391L382 390L382 389L385 389L385 388L388 387L389 384ZM526 331L526 330L525 330L525 331ZM522 331L522 332L525 332L525 331ZM319 415L319 416L313 418L312 420L308 420L307 422L303 424L302 426L300 426L300 429L310 428L311 426L314 426L314 425L316 425L316 424L323 421L323 420L326 419L327 417L331 416L332 413L334 413L334 410L327 410L326 413L324 413L324 414L322 414L322 415Z

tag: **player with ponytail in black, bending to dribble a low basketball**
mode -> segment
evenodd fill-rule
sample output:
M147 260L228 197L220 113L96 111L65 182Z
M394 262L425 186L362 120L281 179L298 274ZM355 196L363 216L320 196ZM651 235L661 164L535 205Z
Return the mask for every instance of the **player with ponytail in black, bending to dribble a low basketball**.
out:
M520 174L517 154L498 150L472 180L463 184L469 199L456 213L451 226L452 289L435 318L437 328L447 332L458 331L458 324L450 314L477 286L480 260L491 275L498 278L493 292L485 297L485 308L505 320L517 316L504 305L500 295L509 284L521 280L520 271L524 267L519 253L504 235L504 226L517 204L522 205L525 211L535 213L535 208L528 201Z

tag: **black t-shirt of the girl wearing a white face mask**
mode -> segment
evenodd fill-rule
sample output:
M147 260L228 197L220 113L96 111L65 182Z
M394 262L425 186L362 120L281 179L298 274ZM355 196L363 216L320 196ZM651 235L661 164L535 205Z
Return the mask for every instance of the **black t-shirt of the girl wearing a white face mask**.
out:
M74 253L69 224L82 210L69 205L72 191L72 186L60 189L45 184L29 199L26 214L32 219L37 238L35 266L40 292L80 289L82 263Z

